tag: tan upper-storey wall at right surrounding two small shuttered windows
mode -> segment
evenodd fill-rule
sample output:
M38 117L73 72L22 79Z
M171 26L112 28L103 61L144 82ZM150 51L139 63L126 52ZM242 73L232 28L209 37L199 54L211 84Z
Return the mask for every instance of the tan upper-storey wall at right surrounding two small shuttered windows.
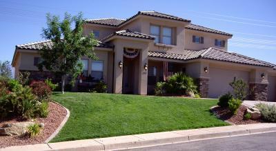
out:
M193 43L193 35L204 37L204 43ZM224 36L221 34L213 34L209 32L201 32L197 30L185 30L185 49L187 50L202 50L205 48L218 48L221 50L227 50L228 48L228 36ZM215 46L215 39L220 39L225 41L225 47Z

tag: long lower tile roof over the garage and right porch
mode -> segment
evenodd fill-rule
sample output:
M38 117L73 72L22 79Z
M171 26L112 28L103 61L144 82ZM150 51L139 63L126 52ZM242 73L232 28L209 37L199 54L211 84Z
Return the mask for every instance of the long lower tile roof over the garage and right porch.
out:
M266 61L260 61L258 59L246 57L242 54L226 52L224 50L219 50L217 48L208 48L205 50L184 50L183 54L149 51L148 56L166 58L166 59L179 59L184 61L191 60L191 59L210 59L210 60L242 63L242 64L247 64L252 66L264 66L264 67L271 67L271 68L275 66L272 63L268 63Z

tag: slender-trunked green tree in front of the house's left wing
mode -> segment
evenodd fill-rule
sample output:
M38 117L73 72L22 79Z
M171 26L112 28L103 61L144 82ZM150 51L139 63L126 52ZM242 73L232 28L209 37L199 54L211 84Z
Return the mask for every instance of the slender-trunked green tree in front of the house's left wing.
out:
M71 83L77 79L82 71L80 59L87 56L96 59L94 47L98 41L93 34L83 36L83 15L71 17L67 12L62 21L58 16L46 15L47 28L43 28L43 38L50 40L52 45L43 45L40 50L43 61L38 64L39 70L46 68L61 76L61 91L64 93L66 75L72 78ZM72 29L71 27L74 26Z

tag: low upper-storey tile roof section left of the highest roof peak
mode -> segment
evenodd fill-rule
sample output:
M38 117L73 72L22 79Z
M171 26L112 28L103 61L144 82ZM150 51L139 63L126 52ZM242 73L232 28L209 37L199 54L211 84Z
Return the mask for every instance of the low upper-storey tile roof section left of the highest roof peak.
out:
M108 19L88 19L86 20L87 23L95 23L100 25L107 25L107 26L119 26L119 24L123 23L124 19L114 19L114 18L108 18Z

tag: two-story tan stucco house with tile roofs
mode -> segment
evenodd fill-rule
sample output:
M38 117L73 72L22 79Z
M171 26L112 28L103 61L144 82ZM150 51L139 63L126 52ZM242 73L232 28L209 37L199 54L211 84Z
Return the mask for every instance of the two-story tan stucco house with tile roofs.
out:
M108 92L150 94L157 81L185 72L198 81L201 97L217 98L231 90L229 82L244 79L250 99L276 101L276 70L273 63L228 52L233 35L190 23L190 20L155 11L138 12L129 19L86 20L84 33L95 34L99 60L83 57L78 88L103 80ZM50 77L39 72L38 50L50 41L16 46L12 66L15 76L31 72L34 79ZM274 69L273 69L274 68Z

